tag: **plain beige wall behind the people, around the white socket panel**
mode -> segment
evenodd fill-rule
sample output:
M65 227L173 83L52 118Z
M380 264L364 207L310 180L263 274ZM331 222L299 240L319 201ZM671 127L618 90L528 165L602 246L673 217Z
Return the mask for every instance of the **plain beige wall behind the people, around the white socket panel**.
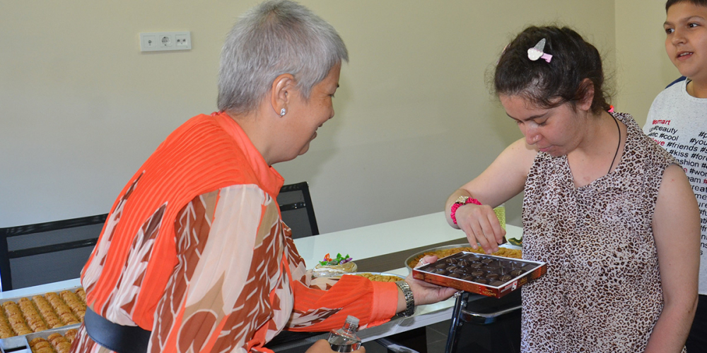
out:
M337 115L308 154L276 164L288 183L310 182L322 232L442 210L449 193L520 138L485 75L527 24L572 25L613 70L619 47L618 101L636 112L670 76L629 65L662 55L643 54L660 38L629 37L632 25L660 28L660 4L301 2L339 30L351 54ZM216 109L223 38L256 1L40 3L0 0L0 227L107 212L173 128ZM631 15L641 6L657 25ZM139 32L170 30L191 31L192 50L139 52ZM519 224L520 198L508 215Z

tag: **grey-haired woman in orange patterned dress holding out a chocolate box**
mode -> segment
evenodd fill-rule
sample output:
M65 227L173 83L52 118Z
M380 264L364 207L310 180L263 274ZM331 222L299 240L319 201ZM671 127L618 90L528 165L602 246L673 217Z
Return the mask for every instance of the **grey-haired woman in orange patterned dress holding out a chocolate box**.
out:
M326 331L349 315L365 328L452 295L411 278L313 279L281 220L271 165L306 152L334 116L343 61L336 30L291 1L238 20L219 112L173 131L111 209L81 274L74 353L267 352L284 329ZM323 340L309 351L332 352Z

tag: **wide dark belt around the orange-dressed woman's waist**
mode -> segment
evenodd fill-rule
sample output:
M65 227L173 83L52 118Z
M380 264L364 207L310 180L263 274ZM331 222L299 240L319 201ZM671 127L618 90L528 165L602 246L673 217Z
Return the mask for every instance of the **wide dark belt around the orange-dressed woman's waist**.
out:
M117 353L146 353L152 334L140 326L124 326L107 321L90 308L86 308L83 325L93 342Z

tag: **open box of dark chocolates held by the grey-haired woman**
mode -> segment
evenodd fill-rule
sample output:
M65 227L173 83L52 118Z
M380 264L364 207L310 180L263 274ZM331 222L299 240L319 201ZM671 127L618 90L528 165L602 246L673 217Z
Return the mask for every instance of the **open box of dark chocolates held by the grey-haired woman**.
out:
M501 298L547 273L536 261L461 251L412 270L417 280Z

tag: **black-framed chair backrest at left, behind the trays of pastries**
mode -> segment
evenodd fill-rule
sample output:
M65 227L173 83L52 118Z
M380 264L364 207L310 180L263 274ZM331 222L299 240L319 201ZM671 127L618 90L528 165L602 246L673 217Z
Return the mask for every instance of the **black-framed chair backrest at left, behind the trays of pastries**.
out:
M106 217L0 228L0 290L78 278Z

